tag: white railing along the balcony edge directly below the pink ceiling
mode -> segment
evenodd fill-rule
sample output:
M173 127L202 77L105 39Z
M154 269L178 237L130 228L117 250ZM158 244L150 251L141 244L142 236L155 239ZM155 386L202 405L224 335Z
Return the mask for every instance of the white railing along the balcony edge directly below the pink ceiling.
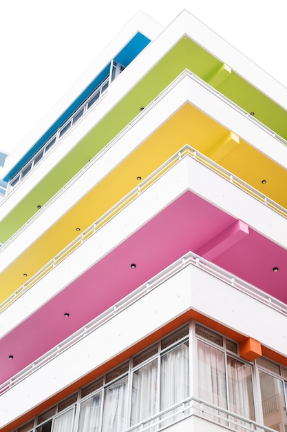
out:
M26 377L40 369L42 366L50 362L56 356L63 353L63 351L65 351L67 348L70 348L70 346L76 344L78 341L82 340L84 337L95 331L99 326L102 326L103 324L111 320L115 315L118 315L118 313L124 311L126 308L131 306L131 304L138 302L138 300L147 295L150 291L153 291L153 289L157 288L160 284L167 281L167 279L169 279L171 276L176 275L176 273L189 265L200 268L202 271L205 271L206 273L217 277L217 279L222 280L226 284L233 286L237 290L242 291L246 295L249 295L256 300L259 300L259 302L266 304L266 306L274 308L276 311L287 315L286 304L279 302L279 300L275 299L275 297L270 297L269 295L264 293L264 291L260 291L255 286L244 282L242 279L239 279L231 273L224 271L222 268L216 266L215 264L212 264L209 261L206 261L206 259L199 257L195 253L189 252L187 253L187 255L184 255L184 257L178 259L169 267L165 268L164 271L158 273L158 275L149 279L148 282L142 284L142 286L127 295L118 303L114 304L114 306L108 308L107 311L98 315L98 317L94 318L94 320L89 322L89 324L80 328L78 331L76 331L76 333L67 337L67 339L61 342L61 344L55 346L50 351L47 351L47 353L39 357L38 360L36 360L29 366L25 367L25 369L11 377L10 380L3 382L3 384L0 385L0 395L1 393L8 391L12 386L18 384Z

